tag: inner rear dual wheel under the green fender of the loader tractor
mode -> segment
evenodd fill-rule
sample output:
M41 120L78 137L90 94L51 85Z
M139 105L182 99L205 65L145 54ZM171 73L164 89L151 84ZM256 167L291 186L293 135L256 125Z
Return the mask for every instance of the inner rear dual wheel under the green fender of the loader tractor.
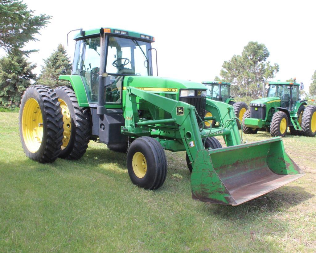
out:
M69 87L59 86L54 91L64 121L64 138L59 157L78 160L88 148L91 135L90 112L79 107L76 93Z

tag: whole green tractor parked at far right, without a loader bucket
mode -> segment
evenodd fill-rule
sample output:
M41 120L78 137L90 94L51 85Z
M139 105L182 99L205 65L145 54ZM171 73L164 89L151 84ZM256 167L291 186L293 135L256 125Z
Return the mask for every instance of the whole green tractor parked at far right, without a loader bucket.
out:
M269 82L267 96L252 101L243 117L243 132L255 134L265 128L272 136L284 137L289 127L293 135L315 136L316 106L300 99L303 83Z

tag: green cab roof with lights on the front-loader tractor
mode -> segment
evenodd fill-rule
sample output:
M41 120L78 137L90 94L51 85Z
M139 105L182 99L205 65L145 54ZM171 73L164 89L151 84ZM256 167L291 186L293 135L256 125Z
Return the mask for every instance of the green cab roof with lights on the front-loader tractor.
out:
M123 30L123 29L117 29L117 28L110 28L110 27L105 27L105 28L95 28L95 29L90 29L87 31L83 31L84 35L81 33L78 33L75 35L74 40L79 40L80 38L88 37L91 35L99 35L100 34L100 29L104 29L104 33L106 34L115 34L119 36L124 36L124 37L133 37L137 38L140 40L146 40L149 42L155 42L155 38L151 35L148 34L143 34L143 33L138 33L138 32L133 32L129 30Z

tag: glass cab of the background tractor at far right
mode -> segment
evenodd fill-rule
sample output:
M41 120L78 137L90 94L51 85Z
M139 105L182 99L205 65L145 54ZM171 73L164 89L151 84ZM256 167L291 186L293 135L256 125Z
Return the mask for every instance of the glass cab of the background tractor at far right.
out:
M281 108L293 111L296 102L300 100L300 84L295 82L269 82L267 83L267 97L281 99Z

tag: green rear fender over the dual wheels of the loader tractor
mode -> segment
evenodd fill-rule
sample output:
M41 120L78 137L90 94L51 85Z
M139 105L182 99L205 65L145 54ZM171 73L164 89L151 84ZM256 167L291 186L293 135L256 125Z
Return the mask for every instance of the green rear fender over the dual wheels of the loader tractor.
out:
M61 75L58 80L69 81L76 93L78 104L80 107L89 107L88 97L81 76L79 75Z

